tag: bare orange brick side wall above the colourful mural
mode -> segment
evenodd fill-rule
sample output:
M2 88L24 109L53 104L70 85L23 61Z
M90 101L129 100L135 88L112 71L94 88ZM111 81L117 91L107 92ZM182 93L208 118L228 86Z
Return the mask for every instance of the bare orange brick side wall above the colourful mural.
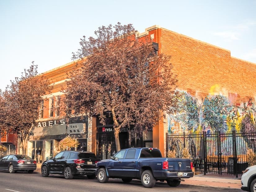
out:
M236 95L233 102L239 103L256 96L254 63L231 57L229 50L167 29L155 31L161 33L160 52L172 56L179 90L200 97L219 93L227 97Z

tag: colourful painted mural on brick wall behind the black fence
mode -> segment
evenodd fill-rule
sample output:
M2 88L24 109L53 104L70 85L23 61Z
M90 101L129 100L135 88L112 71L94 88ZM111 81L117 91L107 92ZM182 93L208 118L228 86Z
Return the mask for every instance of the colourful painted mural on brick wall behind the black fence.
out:
M221 134L232 130L242 133L255 132L256 108L249 99L242 104L231 105L227 97L222 95L207 96L201 100L193 98L186 92L175 93L177 106L172 108L173 114L168 115L168 132L207 132L207 135L220 131ZM214 148L216 141L209 139L207 148ZM237 147L247 145L242 137L236 140ZM232 146L232 141L224 139L224 146ZM209 150L218 155L216 150ZM228 151L229 150L229 151ZM240 150L239 150L240 151ZM232 154L232 148L222 151L223 155Z

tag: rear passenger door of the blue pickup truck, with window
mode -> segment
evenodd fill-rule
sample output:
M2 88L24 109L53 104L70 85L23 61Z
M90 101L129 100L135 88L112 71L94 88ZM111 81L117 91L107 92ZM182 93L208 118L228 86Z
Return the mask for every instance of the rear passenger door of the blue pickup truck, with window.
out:
M121 176L125 177L135 177L136 175L136 167L137 167L137 159L135 159L136 149L128 149L123 159Z

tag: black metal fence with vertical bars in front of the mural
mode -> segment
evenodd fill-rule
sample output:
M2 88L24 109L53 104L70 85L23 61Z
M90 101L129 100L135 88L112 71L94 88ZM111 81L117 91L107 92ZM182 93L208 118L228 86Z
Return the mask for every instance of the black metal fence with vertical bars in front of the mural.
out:
M166 155L175 150L177 158L182 157L183 148L188 149L197 174L238 177L248 167L248 149L256 152L256 132L167 133L166 146Z

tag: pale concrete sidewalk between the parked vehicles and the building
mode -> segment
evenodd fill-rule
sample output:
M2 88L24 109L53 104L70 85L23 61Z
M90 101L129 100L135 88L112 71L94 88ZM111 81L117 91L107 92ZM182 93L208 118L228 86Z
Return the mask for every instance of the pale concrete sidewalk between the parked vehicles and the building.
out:
M37 164L35 173L41 174L41 163ZM235 176L218 176L213 174L195 175L189 179L185 179L180 184L182 187L191 187L193 189L240 189L241 177Z

